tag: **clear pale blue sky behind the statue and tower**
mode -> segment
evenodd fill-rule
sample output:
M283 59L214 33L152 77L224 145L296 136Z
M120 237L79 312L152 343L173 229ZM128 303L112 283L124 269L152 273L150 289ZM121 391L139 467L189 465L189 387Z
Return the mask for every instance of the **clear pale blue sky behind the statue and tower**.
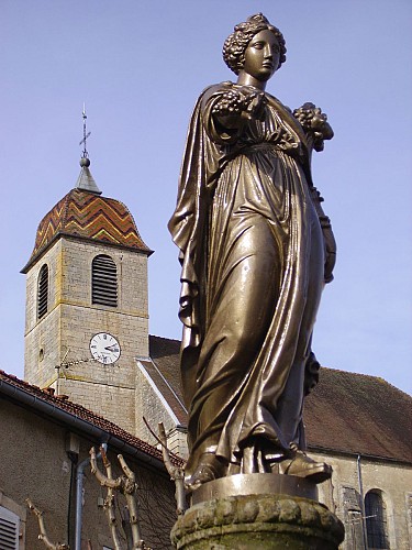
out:
M0 369L23 376L26 263L42 217L76 184L81 109L91 172L127 205L149 260L151 332L179 338L166 229L193 103L234 75L233 25L258 11L288 58L267 90L313 101L335 138L313 160L338 243L314 336L321 363L412 393L412 3L409 0L1 0Z

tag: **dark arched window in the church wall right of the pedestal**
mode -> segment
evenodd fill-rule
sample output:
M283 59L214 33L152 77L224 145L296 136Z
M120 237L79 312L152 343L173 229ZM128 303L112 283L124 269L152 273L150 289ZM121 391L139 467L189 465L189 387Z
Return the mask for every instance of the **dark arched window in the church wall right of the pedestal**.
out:
M387 508L381 491L369 491L365 496L366 531L369 550L388 549Z

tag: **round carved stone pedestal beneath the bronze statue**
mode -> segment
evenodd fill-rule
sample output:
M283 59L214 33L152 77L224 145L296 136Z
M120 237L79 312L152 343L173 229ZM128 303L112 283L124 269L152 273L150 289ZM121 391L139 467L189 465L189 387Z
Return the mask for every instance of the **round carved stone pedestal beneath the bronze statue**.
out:
M205 494L214 492L216 496L211 499L202 501L202 497L199 498L194 492L193 499L198 502L178 519L171 530L171 541L176 548L178 550L337 549L344 539L344 527L325 506L308 497L268 492L274 479L275 482L282 483L287 477L288 483L292 484L292 476L252 475L253 482L248 480L249 476L240 474L215 480L198 490ZM241 490L243 494L224 495L225 483L230 485L226 493L232 492L233 484L236 485L231 480L233 477L246 477L237 480L237 484L243 487ZM301 479L294 480L297 485L302 484ZM254 493L255 482L258 485L266 484L266 492ZM207 486L212 484L214 487L208 490ZM246 494L247 492L249 494Z

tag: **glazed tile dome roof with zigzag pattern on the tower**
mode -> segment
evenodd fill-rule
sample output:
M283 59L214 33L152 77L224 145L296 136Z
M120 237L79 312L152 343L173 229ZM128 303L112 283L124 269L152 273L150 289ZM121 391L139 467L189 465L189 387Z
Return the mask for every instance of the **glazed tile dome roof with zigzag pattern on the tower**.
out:
M75 188L40 222L34 250L23 273L58 235L91 239L152 253L123 202Z

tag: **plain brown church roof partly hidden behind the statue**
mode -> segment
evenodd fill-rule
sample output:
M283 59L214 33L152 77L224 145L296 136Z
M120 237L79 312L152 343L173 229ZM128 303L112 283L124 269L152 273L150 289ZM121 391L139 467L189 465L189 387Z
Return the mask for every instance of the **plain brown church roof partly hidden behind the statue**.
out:
M149 338L153 361L182 399L180 343ZM303 418L309 449L412 464L412 397L382 378L322 367Z

